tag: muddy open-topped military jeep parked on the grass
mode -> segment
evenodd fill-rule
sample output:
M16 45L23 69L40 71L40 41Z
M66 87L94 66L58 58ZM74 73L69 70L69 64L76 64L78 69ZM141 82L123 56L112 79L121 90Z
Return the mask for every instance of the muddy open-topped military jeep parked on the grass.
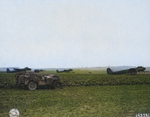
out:
M29 90L36 90L40 85L47 85L51 88L62 88L60 76L54 74L44 75L31 71L23 71L15 74L16 85L24 85Z

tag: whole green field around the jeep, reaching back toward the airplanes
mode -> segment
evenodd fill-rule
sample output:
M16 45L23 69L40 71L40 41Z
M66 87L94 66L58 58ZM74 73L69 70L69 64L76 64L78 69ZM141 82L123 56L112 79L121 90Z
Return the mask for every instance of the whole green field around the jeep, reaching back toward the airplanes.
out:
M17 108L20 117L135 117L150 113L150 74L107 75L73 70L61 76L63 89L15 87L14 74L0 73L0 117ZM92 72L92 73L89 73Z

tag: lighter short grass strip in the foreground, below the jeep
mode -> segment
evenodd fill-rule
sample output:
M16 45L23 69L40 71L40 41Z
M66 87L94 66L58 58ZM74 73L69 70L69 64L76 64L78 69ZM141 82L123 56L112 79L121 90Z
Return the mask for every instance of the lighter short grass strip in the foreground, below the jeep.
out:
M0 116L135 117L150 113L150 85L80 86L63 89L0 89Z

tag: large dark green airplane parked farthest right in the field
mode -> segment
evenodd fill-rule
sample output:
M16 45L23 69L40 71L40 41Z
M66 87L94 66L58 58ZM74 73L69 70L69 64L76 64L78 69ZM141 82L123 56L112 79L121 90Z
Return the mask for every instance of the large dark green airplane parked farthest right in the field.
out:
M136 75L138 72L141 73L146 70L145 67L138 66L136 68L130 68L130 69L125 69L125 70L120 70L120 71L115 71L113 72L110 68L107 68L107 74L131 74L131 75Z

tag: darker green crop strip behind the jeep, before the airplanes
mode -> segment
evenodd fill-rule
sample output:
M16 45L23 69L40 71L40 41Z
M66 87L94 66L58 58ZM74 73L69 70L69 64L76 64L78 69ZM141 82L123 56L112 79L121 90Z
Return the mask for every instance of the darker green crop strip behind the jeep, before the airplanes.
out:
M46 72L48 74L48 72ZM138 75L107 75L107 74L73 74L57 73L61 77L63 86L92 86L92 85L133 85L150 84L150 74ZM0 87L11 88L14 84L15 74L1 73Z

